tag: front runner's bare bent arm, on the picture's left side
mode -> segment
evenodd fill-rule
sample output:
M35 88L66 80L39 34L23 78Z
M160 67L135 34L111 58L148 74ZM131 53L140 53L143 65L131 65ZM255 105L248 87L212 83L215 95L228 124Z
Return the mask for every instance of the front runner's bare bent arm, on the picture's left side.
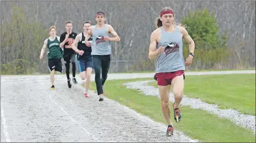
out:
M153 60L158 56L158 53L156 52L156 38L157 38L156 30L152 32L150 36L150 45L149 45L149 60Z

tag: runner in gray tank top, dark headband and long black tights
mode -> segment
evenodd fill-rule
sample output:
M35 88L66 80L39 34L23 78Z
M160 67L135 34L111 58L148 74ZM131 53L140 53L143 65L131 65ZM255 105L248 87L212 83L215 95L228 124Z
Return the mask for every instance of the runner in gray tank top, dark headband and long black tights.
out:
M107 80L107 72L110 64L111 45L110 41L120 41L120 38L111 25L104 23L105 13L96 13L97 25L91 26L85 36L85 44L92 47L92 63L95 71L95 82L99 101L104 100L104 83ZM111 37L111 35L113 37ZM88 38L92 36L92 43ZM100 79L100 71L102 70L102 79Z

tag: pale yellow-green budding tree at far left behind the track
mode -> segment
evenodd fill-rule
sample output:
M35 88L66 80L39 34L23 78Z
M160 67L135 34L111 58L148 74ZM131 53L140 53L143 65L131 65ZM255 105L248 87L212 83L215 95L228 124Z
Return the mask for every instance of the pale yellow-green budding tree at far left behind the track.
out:
M1 72L29 74L38 66L38 56L48 29L25 16L23 8L12 5L12 18L1 25Z

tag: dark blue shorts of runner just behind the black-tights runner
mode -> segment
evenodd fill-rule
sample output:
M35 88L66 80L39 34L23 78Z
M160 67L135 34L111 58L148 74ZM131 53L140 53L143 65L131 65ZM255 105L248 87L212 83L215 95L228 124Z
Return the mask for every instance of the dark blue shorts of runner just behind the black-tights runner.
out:
M93 69L92 56L86 56L85 58L79 58L78 60L79 72L86 71L87 67Z

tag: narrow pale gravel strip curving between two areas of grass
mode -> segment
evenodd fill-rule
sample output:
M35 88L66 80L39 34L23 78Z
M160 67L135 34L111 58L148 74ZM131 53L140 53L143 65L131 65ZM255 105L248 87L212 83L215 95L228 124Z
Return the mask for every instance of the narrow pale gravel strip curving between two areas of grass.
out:
M149 82L152 82L154 80L147 80L142 82L130 82L130 83L124 83L127 88L130 89L137 89L145 95L153 95L158 96L160 98L158 89L156 87L152 87L148 85ZM170 94L170 101L174 102L174 96L171 93ZM215 104L207 104L200 99L197 98L188 98L186 95L184 95L181 105L190 105L193 109L203 109L205 111L208 111L209 113L218 115L223 118L228 118L229 120L232 120L235 124L247 127L248 129L251 129L255 133L255 116L253 115L244 115L234 109L219 109L218 105ZM246 118L246 120L244 120Z

